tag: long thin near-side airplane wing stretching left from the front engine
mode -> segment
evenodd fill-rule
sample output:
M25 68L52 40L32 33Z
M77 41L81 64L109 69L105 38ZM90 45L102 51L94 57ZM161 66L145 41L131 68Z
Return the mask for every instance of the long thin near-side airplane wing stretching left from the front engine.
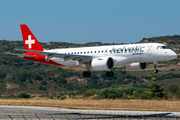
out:
M26 49L15 49L15 50L40 53L40 55L47 56L48 58L52 58L52 57L63 58L64 61L66 60L87 61L92 59L92 56L88 56L88 55L74 55L74 54L72 55L72 54L44 52L44 51L35 51L35 50L26 50Z

